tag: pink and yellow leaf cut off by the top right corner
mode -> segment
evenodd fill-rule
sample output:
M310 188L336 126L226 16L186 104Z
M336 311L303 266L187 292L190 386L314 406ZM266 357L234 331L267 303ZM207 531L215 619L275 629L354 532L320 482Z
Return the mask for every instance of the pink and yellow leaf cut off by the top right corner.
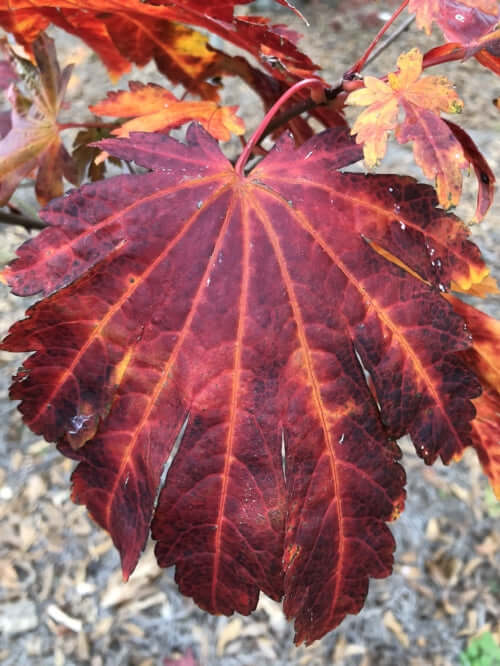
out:
M408 11L428 35L436 21L449 42L462 45L474 44L499 20L498 0L410 0Z

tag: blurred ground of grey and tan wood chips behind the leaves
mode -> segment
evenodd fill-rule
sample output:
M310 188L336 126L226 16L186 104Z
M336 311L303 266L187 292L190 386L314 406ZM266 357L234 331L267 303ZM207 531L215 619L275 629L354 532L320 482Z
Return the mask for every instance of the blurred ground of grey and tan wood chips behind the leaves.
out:
M358 0L304 4L309 28L277 5L272 12L275 22L305 34L302 48L323 67L325 78L335 81L390 9L383 2L367 5ZM270 8L261 11L269 14ZM86 105L113 86L86 48L53 34L63 63L76 62L71 115L84 119ZM436 43L436 35L426 37L411 26L367 73L393 69L398 54L411 46L427 49ZM500 96L499 80L475 61L448 65L440 73L456 82L466 103L460 124L500 173L500 114L491 104ZM162 82L153 65L127 78ZM255 127L260 114L252 93L234 84L226 101L240 104L247 127ZM229 154L235 149L230 145ZM394 142L379 171L422 179L411 152ZM474 188L474 177L466 178L459 209L466 221ZM28 208L34 206L29 191L17 194ZM495 203L472 229L497 279L499 213ZM33 232L0 225L0 235L4 264ZM0 284L0 334L25 307L26 299L11 296ZM481 307L498 315L500 300L491 298ZM500 641L500 505L472 452L450 467L430 468L409 441L401 442L408 500L392 526L397 542L392 577L372 581L359 615L312 646L296 648L293 628L278 604L262 595L250 617L210 616L178 593L172 571L157 568L151 546L130 582L121 581L109 537L70 501L72 463L27 430L8 400L10 376L21 358L0 352L0 662L6 666L160 666L189 648L202 666L452 666L479 633L490 631Z

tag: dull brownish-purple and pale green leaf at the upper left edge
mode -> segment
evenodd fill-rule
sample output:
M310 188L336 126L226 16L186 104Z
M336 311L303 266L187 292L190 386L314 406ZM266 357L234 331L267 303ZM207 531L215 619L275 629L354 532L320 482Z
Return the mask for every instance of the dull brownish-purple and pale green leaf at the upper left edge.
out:
M6 203L19 182L34 170L35 191L41 203L63 193L63 175L77 182L57 123L72 68L61 72L53 40L48 37L40 36L33 48L37 68L25 77L32 98L22 95L14 85L10 88L10 127L0 141L0 204Z

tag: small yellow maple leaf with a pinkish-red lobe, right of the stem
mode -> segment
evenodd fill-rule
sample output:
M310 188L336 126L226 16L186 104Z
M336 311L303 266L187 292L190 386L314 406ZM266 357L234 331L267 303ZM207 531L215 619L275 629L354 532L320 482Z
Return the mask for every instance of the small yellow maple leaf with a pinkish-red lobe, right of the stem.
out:
M436 179L439 203L456 206L462 192L462 169L468 161L460 141L440 112L458 113L462 102L449 81L441 76L420 77L422 54L412 49L398 58L399 72L388 83L371 76L365 88L355 90L347 104L368 106L352 127L357 143L363 144L365 162L375 166L385 155L389 132L399 143L413 142L416 163L427 178ZM405 117L400 121L400 110Z

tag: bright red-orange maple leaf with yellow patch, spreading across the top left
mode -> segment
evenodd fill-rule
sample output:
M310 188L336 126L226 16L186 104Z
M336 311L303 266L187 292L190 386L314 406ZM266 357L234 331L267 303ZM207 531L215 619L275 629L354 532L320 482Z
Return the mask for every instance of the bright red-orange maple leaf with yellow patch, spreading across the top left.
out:
M278 2L298 13L286 0ZM41 0L30 11L39 16L40 30L53 23L85 41L114 79L130 69L130 62L144 66L154 58L158 69L173 83L182 83L189 92L211 101L219 99L221 77L242 76L269 108L287 87L313 74L317 65L298 49L298 33L263 17L234 16L238 4L247 3ZM8 11L2 12L2 7ZM27 7L31 7L29 0L0 0L0 25L13 31L14 17ZM206 36L179 22L201 27L245 49L267 71L249 65L241 56L213 49ZM20 30L18 26L16 37L29 49L36 31L30 28L23 35ZM304 95L307 98L307 93L300 92L299 98ZM326 127L345 125L338 109L314 108L311 116ZM304 118L293 118L286 126L299 143L313 134Z

